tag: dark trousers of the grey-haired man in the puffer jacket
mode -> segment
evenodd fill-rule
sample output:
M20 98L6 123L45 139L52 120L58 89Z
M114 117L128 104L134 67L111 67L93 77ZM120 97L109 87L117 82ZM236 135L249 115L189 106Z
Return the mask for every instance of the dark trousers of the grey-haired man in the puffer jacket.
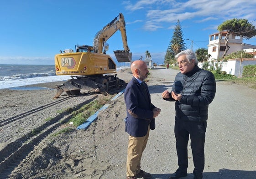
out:
M190 135L193 154L193 174L201 179L204 170L204 141L207 122L175 121L174 133L176 138L176 150L178 154L178 166L183 172L188 168L188 138Z

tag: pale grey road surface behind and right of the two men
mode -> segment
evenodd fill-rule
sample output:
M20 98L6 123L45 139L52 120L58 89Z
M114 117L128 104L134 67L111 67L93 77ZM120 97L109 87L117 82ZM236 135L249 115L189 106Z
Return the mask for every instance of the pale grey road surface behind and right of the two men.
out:
M141 164L152 179L168 179L178 169L175 111L174 102L162 100L161 93L171 90L178 71L158 68L150 72L155 79L149 84L152 103L162 111L156 118L156 129L150 133ZM256 179L256 90L235 83L216 83L216 96L209 105L204 179ZM188 158L188 176L183 179L193 179L189 145Z

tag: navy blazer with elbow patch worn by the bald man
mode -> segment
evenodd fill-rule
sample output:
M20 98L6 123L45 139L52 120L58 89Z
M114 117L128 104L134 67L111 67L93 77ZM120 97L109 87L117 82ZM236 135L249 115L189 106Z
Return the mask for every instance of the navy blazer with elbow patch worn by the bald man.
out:
M155 118L153 118L153 109L155 106L151 103L150 94L146 83L146 93L143 87L135 77L125 88L125 104L127 117L125 118L125 131L134 137L143 137L146 135L148 125L155 128ZM133 113L131 115L128 110Z

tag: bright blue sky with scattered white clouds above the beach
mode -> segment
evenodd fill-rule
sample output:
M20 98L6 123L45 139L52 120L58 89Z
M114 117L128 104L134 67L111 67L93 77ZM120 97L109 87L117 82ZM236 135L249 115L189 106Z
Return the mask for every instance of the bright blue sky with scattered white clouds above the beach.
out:
M0 64L49 64L60 50L93 45L95 34L122 13L132 60L149 51L163 63L177 20L187 48L207 48L225 20L256 26L255 0L5 0L0 5ZM186 40L189 39L189 40ZM110 56L123 50L120 31L108 41ZM256 45L256 37L244 40ZM116 61L117 62L117 61ZM117 65L123 65L117 63Z

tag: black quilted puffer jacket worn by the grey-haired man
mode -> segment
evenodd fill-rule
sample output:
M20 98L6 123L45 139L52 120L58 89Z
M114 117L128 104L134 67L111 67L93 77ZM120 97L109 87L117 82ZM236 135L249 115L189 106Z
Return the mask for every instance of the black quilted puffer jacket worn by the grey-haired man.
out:
M197 65L192 71L179 72L174 80L172 91L182 95L175 102L175 120L206 121L208 106L213 101L216 92L216 82L212 72L200 69ZM171 93L167 101L174 101Z

